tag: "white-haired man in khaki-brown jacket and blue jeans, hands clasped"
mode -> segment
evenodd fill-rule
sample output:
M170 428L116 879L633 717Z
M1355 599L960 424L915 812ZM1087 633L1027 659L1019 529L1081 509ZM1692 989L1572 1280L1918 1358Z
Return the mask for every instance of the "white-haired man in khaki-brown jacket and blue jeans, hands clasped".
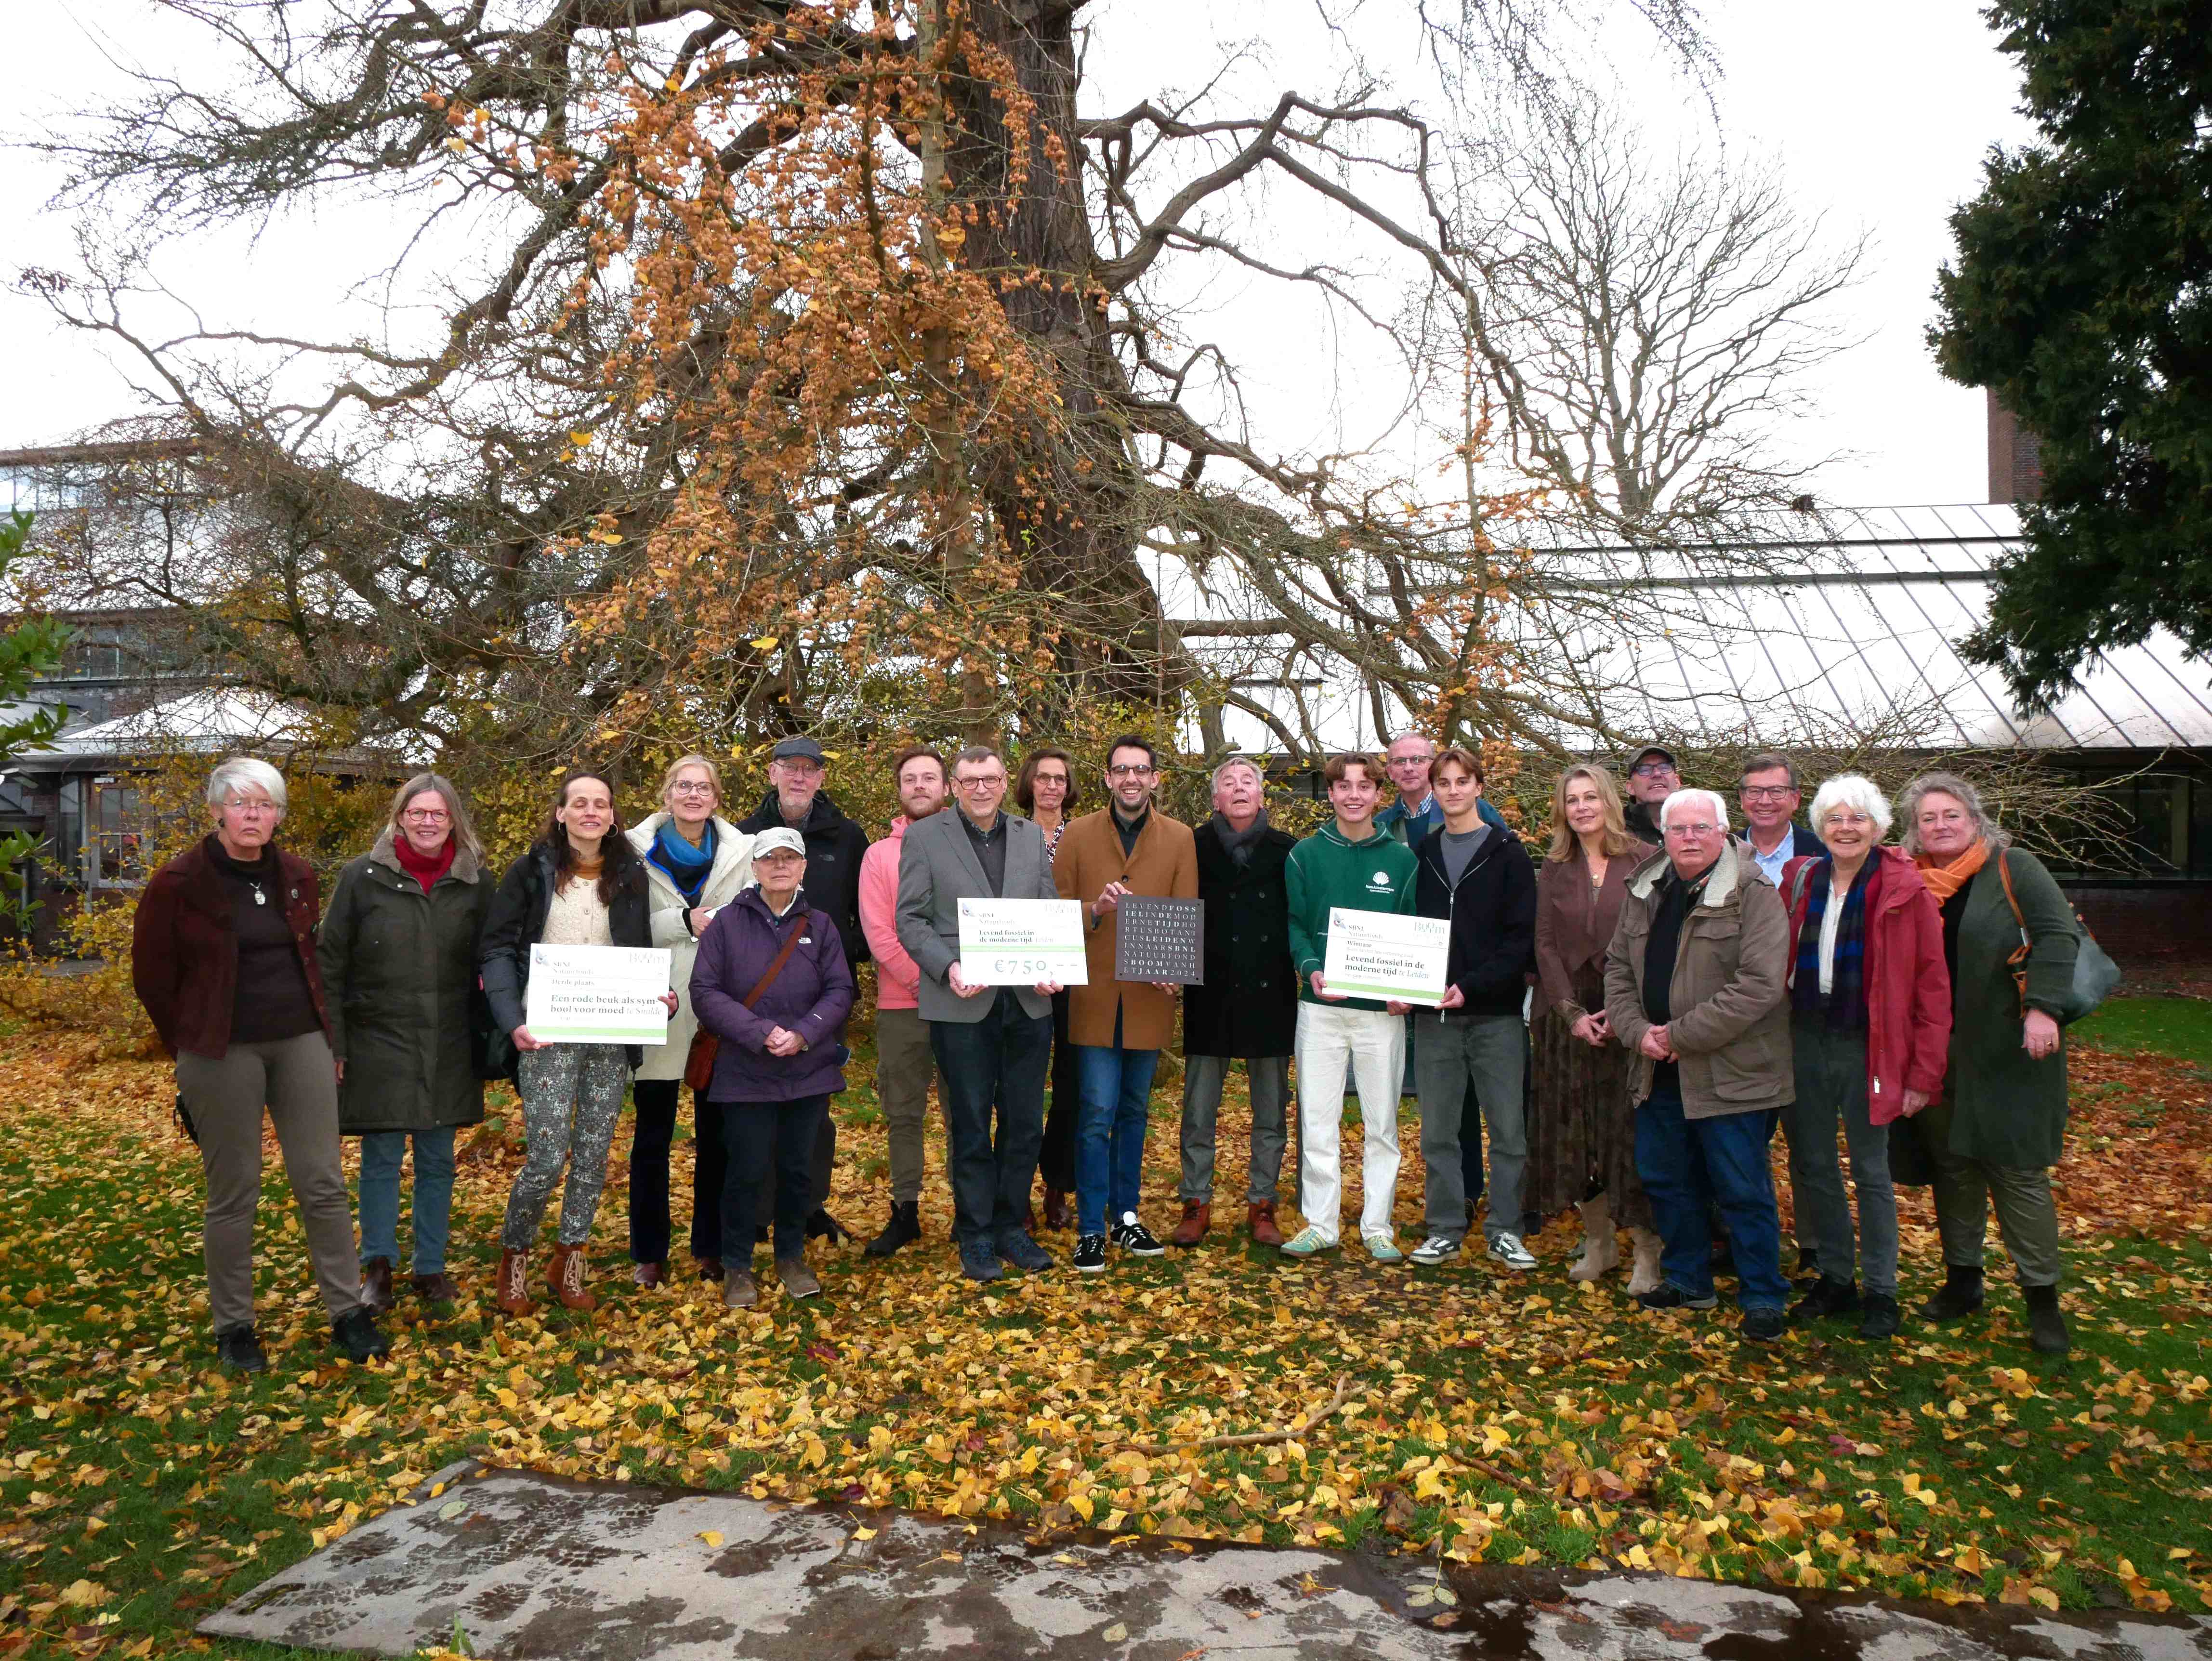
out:
M1606 949L1606 1017L1637 1057L1637 1177L1659 1223L1661 1283L1646 1309L1710 1309L1708 1214L1736 1263L1743 1336L1783 1336L1790 1285L1767 1141L1796 1099L1790 1046L1790 918L1728 836L1728 803L1679 790L1661 809L1666 852L1628 878Z

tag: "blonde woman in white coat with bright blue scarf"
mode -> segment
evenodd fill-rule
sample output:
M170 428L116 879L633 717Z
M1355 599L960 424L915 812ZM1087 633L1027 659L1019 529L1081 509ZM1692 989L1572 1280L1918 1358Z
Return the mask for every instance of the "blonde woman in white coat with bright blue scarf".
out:
M646 860L653 944L668 947L668 984L681 997L668 1042L646 1051L633 1097L630 1132L630 1278L641 1287L668 1278L668 1148L677 1130L677 1095L699 1017L690 1004L692 958L714 913L752 882L752 836L714 809L721 772L706 756L681 756L661 779L661 812L630 832ZM721 1117L706 1093L692 1090L692 1258L701 1281L721 1281ZM743 1263L750 1250L739 1252Z

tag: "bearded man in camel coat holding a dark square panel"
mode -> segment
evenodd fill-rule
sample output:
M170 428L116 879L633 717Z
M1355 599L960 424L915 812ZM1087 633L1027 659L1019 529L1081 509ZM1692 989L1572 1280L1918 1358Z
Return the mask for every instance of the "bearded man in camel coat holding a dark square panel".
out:
M1082 900L1088 924L1091 984L1068 991L1068 1037L1082 1112L1075 1121L1075 1267L1106 1267L1113 1243L1137 1256L1166 1247L1137 1221L1144 1130L1152 1068L1175 1033L1177 986L1113 978L1124 898L1199 898L1199 845L1190 825L1152 809L1159 763L1150 739L1124 732L1106 750L1106 807L1060 836L1053 882L1062 900Z

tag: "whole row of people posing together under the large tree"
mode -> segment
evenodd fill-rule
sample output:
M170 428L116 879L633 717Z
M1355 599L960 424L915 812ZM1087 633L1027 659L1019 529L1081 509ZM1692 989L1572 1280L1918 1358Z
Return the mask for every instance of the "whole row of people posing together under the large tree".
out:
M1077 812L1088 781L1066 750L1031 748L1009 774L991 745L951 759L907 748L891 759L900 814L876 843L823 790L825 770L816 741L785 739L770 792L730 821L717 765L684 756L635 827L608 779L575 772L495 887L460 794L420 774L323 911L312 867L274 845L283 776L223 761L208 781L212 832L148 882L133 955L206 1166L221 1358L265 1365L252 1292L263 1110L334 1343L367 1358L385 1349L376 1314L396 1298L409 1146L411 1289L456 1296L453 1132L482 1117L482 1082L500 1075L515 1079L526 1137L502 1228L502 1312L531 1309L529 1263L555 1188L546 1289L593 1307L584 1247L626 1095L633 1276L666 1281L686 1082L697 1272L730 1307L754 1305L754 1241L770 1234L785 1296L814 1296L805 1243L838 1232L823 1210L830 1099L845 1088L843 1028L867 960L891 1190L869 1256L922 1239L931 1084L969 1278L1048 1270L1040 1234L1071 1228L1079 1272L1106 1270L1110 1254L1197 1247L1212 1230L1223 1086L1241 1062L1245 1230L1292 1258L1340 1243L1349 1084L1363 1124L1358 1239L1376 1261L1449 1263L1480 1212L1489 1256L1526 1272L1524 1219L1579 1208L1579 1281L1619 1267L1626 1230L1628 1289L1646 1307L1712 1307L1717 1265L1732 1265L1750 1340L1849 1316L1885 1338L1898 1329L1893 1168L1918 1155L1947 1267L1924 1314L1980 1307L1995 1199L2033 1343L2066 1349L2048 1170L2066 1124L2057 1013L2079 933L2057 882L2008 847L1964 779L1924 774L1891 807L1843 774L1801 823L1794 765L1763 754L1739 779L1739 832L1725 798L1686 790L1674 756L1652 745L1626 763L1626 801L1606 767L1564 770L1548 843L1531 858L1484 801L1482 759L1420 734L1387 759L1332 756L1329 818L1305 838L1270 823L1265 776L1241 756L1214 770L1206 823L1170 818L1155 801L1157 750L1139 734L1108 745L1093 812ZM1902 845L1887 843L1893 823ZM1133 896L1206 902L1199 984L1115 980ZM975 898L1077 902L1086 982L969 978L960 902ZM1332 911L1447 922L1442 1000L1332 989ZM538 944L668 949L666 1044L535 1037ZM1177 1006L1181 1214L1161 1241L1141 1214L1144 1137ZM1405 1093L1420 1104L1427 1170L1425 1232L1409 1252L1394 1223ZM1301 1228L1285 1236L1292 1124ZM1809 1272L1794 1307L1767 1157L1776 1128ZM361 1137L358 1252L343 1135Z

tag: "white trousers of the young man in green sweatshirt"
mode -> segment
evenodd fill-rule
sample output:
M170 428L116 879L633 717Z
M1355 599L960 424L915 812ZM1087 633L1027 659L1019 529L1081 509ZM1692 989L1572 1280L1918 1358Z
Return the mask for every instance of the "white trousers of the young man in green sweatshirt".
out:
M1380 1009L1298 1004L1298 1210L1336 1245L1343 1212L1345 1073L1360 1090L1360 1234L1389 1234L1398 1203L1398 1086L1405 1020Z

